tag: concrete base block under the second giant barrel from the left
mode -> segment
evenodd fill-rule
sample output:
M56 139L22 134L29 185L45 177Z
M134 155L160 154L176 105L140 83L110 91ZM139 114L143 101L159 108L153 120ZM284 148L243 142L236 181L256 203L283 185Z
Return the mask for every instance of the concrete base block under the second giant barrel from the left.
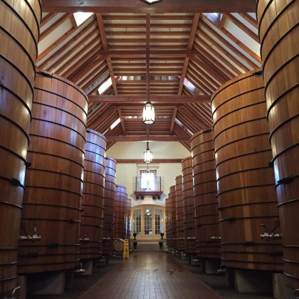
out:
M34 273L27 276L28 295L60 295L65 290L65 271Z

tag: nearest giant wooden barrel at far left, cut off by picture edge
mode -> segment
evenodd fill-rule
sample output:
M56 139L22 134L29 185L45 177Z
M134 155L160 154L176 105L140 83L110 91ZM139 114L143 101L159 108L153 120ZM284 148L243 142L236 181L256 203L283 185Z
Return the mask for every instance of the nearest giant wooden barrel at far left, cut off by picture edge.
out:
M40 21L40 1L0 0L0 297L16 288Z

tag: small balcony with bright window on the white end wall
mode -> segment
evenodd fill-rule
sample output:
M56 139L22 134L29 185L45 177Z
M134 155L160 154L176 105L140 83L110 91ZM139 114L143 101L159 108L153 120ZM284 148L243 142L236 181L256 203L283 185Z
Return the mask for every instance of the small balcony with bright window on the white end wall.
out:
M160 199L162 191L162 178L154 174L143 174L135 177L136 199L145 199L145 196L152 196L152 199Z

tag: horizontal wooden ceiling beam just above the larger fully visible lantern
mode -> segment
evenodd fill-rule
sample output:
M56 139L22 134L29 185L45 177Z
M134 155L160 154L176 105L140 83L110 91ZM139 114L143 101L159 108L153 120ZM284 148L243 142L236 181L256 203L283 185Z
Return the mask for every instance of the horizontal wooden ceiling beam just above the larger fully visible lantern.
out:
M89 95L89 103L142 103L146 99L145 95L136 96L122 96L122 95ZM184 103L210 103L211 95L151 95L150 100L152 103L165 103L165 104L184 104Z

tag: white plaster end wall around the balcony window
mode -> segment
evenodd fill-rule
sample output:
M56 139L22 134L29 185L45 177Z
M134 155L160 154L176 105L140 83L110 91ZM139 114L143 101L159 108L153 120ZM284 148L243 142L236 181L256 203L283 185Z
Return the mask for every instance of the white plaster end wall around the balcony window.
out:
M146 142L117 142L107 150L106 156L116 160L143 159L143 152L146 147ZM150 142L150 150L153 152L153 159L184 159L191 155L179 142ZM175 184L175 177L182 174L182 164L152 164L152 167L157 167L157 175L162 177L163 194L161 199L152 199L151 196L145 196L145 199L135 199L134 177L138 175L140 167L145 168L146 164L117 163L116 183L127 187L127 194L132 200L132 206L140 204L158 204L165 206L165 199L168 197L169 187ZM149 167L151 167L151 165Z

